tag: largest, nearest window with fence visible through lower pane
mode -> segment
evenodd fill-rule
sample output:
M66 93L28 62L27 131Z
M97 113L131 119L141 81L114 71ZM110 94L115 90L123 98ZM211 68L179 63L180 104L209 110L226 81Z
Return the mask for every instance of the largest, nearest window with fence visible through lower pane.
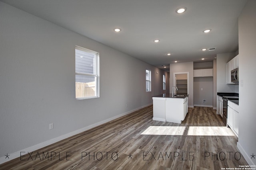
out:
M76 99L100 97L99 53L76 46Z

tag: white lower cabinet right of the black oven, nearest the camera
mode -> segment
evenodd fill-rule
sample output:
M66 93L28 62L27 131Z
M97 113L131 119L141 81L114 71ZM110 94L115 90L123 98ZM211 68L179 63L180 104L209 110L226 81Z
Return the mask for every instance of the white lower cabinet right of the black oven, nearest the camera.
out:
M228 126L238 137L239 106L228 101Z

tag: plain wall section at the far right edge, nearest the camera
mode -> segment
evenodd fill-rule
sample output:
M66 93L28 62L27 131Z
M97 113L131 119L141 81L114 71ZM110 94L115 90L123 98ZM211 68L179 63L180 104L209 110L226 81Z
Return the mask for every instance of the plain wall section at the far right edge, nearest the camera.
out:
M238 20L239 35L239 138L238 148L244 151L249 165L256 154L256 1L248 0ZM243 86L241 86L243 81ZM255 157L255 156L254 156Z

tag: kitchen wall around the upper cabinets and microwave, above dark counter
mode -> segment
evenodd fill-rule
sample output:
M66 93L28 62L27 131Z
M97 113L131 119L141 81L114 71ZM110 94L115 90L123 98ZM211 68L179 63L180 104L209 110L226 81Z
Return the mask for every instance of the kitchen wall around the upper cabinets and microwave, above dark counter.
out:
M234 57L235 52L217 54L217 92L238 93L238 84L226 84L226 63Z

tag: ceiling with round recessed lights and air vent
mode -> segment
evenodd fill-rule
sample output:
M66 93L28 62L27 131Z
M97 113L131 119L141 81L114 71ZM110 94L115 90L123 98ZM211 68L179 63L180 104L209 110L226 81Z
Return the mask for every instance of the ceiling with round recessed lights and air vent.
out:
M30 14L169 70L174 61L212 61L238 50L247 0L1 0ZM182 14L179 7L186 7ZM121 28L115 32L114 28ZM212 29L203 33L205 29ZM154 40L159 39L158 43ZM214 51L201 49L216 48ZM168 56L167 53L172 55ZM165 65L167 66L164 68Z

